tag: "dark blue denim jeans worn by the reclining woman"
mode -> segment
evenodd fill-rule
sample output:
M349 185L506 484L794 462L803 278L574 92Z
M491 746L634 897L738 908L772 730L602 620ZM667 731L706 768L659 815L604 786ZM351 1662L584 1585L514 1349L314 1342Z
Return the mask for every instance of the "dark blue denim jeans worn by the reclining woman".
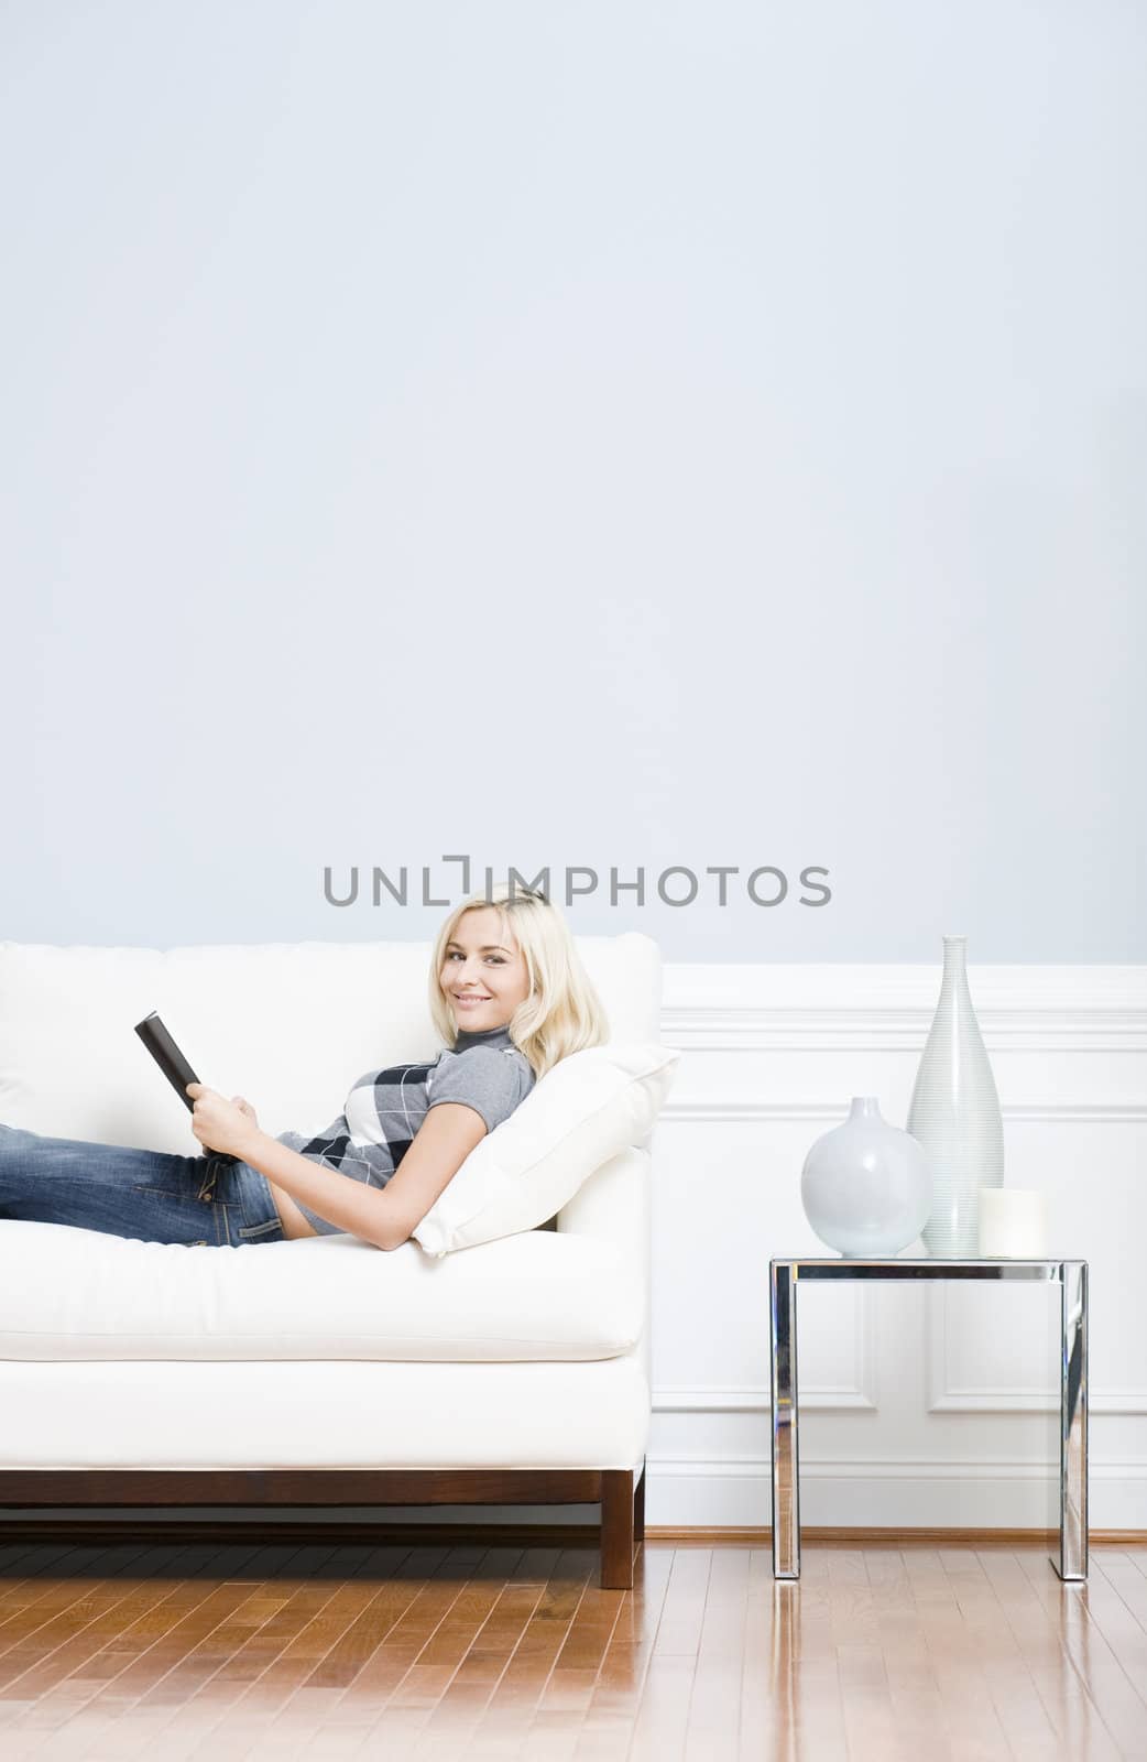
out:
M282 1242L266 1175L250 1163L169 1156L0 1126L0 1219L70 1223L144 1242Z

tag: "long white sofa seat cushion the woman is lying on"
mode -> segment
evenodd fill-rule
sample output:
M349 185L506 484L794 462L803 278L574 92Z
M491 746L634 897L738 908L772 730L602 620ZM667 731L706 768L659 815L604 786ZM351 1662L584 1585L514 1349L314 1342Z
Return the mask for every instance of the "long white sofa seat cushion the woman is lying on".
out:
M610 1242L536 1230L446 1260L349 1235L183 1247L0 1221L0 1360L583 1360L633 1350Z

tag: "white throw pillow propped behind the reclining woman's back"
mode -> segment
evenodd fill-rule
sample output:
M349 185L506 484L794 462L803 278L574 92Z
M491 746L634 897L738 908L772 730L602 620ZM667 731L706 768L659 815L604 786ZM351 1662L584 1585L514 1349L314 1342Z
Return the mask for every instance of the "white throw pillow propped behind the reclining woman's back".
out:
M470 1151L414 1240L440 1258L546 1223L596 1168L652 1131L678 1059L647 1043L562 1059Z

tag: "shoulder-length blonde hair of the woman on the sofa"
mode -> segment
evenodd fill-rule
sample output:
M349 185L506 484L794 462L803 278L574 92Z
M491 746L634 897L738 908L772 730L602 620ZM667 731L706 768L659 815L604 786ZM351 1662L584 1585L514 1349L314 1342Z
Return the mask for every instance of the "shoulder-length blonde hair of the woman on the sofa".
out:
M509 1018L509 1038L525 1055L536 1077L544 1077L560 1059L583 1047L599 1047L610 1038L610 1020L574 948L569 925L543 893L527 888L497 886L492 895L474 893L463 900L439 930L430 959L430 1015L448 1047L458 1027L442 996L446 946L467 911L492 906L518 943L530 980L529 997Z

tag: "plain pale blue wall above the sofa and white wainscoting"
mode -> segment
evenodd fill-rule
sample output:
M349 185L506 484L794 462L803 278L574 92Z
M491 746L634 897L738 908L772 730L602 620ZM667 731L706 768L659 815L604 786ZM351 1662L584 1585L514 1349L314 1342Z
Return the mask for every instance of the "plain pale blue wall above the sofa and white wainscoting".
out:
M0 936L421 937L322 870L451 853L670 959L1147 959L1145 65L1126 0L9 0ZM670 863L742 876L608 904Z

